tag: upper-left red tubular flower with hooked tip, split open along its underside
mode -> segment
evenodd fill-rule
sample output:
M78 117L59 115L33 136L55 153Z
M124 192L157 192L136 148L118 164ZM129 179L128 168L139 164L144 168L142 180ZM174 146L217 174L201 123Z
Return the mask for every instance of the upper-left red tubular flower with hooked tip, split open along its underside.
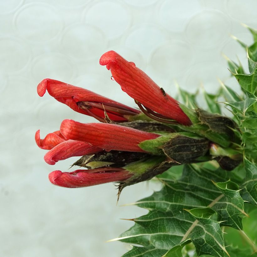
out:
M77 105L78 102L89 101L89 102L96 102L96 103L103 103L103 104L104 103L113 104L116 106L126 108L134 114L140 113L140 111L137 109L130 108L119 102L116 102L109 98L98 95L92 91L86 90L81 87L75 87L70 84L53 80L53 79L44 79L38 84L37 92L40 97L42 97L45 94L46 90L48 91L50 96L55 97L57 101L66 104L67 106L69 106L71 109L73 109L78 113L83 113L86 115L89 115L89 113L86 110L79 108ZM103 110L99 110L98 108L91 108L90 111L93 114L100 116L101 118L104 118ZM116 115L115 113L112 113L112 112L108 113L108 116L110 119L114 121L127 120L126 118L120 117L120 115Z

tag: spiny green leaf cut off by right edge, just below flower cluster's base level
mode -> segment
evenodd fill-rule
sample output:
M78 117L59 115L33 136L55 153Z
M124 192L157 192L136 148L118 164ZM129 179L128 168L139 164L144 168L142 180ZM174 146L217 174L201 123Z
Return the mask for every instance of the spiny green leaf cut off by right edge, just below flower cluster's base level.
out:
M242 197L254 205L257 205L257 167L252 162L244 159L246 178L241 185Z

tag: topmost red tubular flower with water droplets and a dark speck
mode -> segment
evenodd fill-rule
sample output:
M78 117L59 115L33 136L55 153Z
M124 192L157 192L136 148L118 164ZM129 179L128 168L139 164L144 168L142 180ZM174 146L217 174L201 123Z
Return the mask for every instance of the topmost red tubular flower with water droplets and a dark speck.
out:
M114 51L108 51L100 58L99 63L106 65L113 78L120 84L122 90L146 108L155 119L174 119L183 125L191 125L191 120L181 110L179 103L155 84L134 62L128 62ZM143 107L142 107L143 108ZM140 108L143 112L144 109Z

